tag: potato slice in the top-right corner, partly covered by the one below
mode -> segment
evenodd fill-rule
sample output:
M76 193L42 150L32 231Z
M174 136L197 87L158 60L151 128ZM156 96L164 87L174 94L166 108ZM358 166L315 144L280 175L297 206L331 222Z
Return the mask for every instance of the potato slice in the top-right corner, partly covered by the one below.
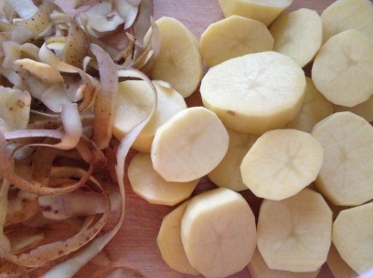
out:
M369 0L338 0L321 15L325 40L348 29L373 38L373 4Z

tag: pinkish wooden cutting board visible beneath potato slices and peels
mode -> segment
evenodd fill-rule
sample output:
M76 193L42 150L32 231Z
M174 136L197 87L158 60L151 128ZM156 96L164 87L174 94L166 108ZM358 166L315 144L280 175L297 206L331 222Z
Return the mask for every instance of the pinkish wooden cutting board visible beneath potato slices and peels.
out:
M69 3L69 0L60 0L60 3ZM293 0L290 10L301 7L312 8L319 12L330 5L333 0ZM161 16L173 16L184 23L197 38L213 22L223 18L218 6L218 0L155 0L155 19ZM197 93L187 98L189 106L201 105ZM133 156L133 153L132 153ZM207 190L214 186L207 180L201 180L197 191ZM258 215L260 200L256 199L249 190L242 195L250 202L254 213ZM192 277L176 273L162 260L156 246L156 236L162 218L172 207L152 205L133 193L126 180L126 214L121 231L115 236L106 248L109 257L114 260L123 257L129 265L144 274L147 278L182 278ZM90 277L98 266L90 263L78 273L77 277ZM202 277L202 276L198 276ZM250 278L245 268L232 278ZM268 277L273 278L273 277ZM333 278L327 266L322 267L318 278Z

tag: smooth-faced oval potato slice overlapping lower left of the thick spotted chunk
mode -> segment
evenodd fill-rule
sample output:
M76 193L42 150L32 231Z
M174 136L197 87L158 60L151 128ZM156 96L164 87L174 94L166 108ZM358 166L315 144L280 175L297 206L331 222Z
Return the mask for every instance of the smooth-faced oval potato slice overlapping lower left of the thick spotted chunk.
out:
M207 108L178 112L155 132L151 156L155 170L168 181L197 180L218 166L229 135Z

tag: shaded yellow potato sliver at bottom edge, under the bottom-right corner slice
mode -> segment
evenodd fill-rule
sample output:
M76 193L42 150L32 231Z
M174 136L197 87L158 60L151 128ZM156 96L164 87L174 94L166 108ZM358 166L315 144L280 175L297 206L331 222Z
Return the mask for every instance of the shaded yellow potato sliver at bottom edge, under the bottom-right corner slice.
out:
M335 278L357 278L358 276L358 274L342 259L334 244L330 246L326 263Z

